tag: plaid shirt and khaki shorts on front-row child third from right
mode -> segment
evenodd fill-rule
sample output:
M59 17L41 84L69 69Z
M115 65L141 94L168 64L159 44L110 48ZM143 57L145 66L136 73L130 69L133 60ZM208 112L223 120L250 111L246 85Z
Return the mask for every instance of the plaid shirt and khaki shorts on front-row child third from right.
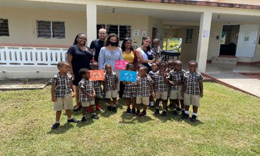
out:
M160 71L155 73L155 75L153 76L153 80L155 83L155 98L167 100L167 84L164 83L164 77L161 75Z

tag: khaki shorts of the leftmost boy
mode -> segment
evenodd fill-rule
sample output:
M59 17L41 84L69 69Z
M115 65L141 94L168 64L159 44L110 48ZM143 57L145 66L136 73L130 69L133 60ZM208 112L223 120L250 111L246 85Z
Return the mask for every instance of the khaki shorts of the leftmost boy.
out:
M67 96L63 98L56 98L56 102L53 103L53 110L54 111L62 111L73 109L73 101L72 101L72 94L68 93Z

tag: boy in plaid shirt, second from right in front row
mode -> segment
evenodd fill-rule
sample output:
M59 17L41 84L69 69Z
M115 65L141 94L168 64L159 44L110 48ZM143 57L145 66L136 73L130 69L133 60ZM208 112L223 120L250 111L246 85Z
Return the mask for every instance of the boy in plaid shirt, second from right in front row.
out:
M183 83L183 75L185 70L182 69L182 62L179 60L174 61L174 69L167 74L167 79L171 85L171 92L169 95L170 101L173 105L173 115L177 116L177 111L180 111L180 105L178 105L178 99L181 103L182 114L184 113L183 96L181 96L181 89ZM178 106L177 106L178 105Z

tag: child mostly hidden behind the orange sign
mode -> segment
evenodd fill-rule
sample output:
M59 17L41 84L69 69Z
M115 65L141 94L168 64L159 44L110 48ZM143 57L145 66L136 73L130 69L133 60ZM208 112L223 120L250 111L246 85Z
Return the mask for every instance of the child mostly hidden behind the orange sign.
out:
M91 62L90 63L90 69L91 70L98 70L98 63L97 62ZM101 88L102 81L92 81L94 89L95 89L95 104L96 104L96 110L103 111L99 106L99 100L103 96L103 90ZM88 112L92 113L91 107L88 107Z

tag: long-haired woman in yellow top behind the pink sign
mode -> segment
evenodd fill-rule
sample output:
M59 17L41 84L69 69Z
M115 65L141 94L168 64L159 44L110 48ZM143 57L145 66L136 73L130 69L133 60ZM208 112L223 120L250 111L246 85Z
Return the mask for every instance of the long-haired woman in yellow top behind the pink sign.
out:
M137 60L137 56L136 56L135 50L132 45L132 39L125 38L123 40L121 49L122 49L122 53L123 53L123 60L128 60L129 63L133 63L136 68L138 60ZM124 90L124 84L120 81L119 98L122 98L123 90Z

